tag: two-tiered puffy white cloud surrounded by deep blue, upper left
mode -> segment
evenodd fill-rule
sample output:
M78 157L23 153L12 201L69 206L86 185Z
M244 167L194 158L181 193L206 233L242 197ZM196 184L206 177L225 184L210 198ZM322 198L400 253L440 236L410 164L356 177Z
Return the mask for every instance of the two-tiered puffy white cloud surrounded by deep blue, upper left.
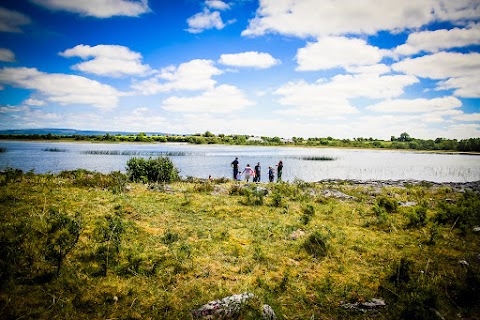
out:
M73 69L100 76L142 76L151 72L150 66L142 64L142 55L118 45L77 45L59 53L63 57L93 58L73 66Z

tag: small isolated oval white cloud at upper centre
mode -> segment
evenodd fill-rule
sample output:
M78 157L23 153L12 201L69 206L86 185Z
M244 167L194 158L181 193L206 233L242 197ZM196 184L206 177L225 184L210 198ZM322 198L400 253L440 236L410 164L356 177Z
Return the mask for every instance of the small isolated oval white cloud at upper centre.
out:
M234 67L253 67L259 69L267 69L280 63L268 53L248 51L234 54L222 54L219 63Z

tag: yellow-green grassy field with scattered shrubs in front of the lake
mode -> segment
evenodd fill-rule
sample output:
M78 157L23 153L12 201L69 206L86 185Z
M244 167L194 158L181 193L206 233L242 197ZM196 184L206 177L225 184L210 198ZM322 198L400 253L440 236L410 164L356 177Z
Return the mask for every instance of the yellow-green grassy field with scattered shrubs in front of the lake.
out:
M242 292L279 319L480 317L480 196L449 186L9 170L0 212L1 319L191 319Z

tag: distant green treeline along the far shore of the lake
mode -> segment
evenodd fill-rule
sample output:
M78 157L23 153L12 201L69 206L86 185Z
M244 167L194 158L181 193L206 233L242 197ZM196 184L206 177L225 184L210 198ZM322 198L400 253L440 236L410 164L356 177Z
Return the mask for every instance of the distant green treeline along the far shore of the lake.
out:
M210 131L193 135L147 135L143 132L132 135L55 135L55 134L3 134L0 139L15 140L75 140L97 142L182 142L191 144L229 144L229 145L295 145L334 148L382 148L405 150L443 150L460 152L480 152L480 138L463 140L437 138L435 140L416 139L404 132L400 136L392 136L390 141L374 138L335 139L293 137L254 137L250 135L215 135Z

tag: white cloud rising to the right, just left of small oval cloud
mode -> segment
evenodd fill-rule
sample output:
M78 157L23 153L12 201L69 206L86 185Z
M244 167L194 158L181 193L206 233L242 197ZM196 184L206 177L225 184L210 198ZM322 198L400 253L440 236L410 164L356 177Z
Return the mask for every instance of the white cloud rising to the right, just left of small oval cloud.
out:
M213 76L222 74L212 60L196 59L168 67L154 77L145 81L134 82L132 88L143 94L156 94L171 90L206 90L212 89L216 81Z

